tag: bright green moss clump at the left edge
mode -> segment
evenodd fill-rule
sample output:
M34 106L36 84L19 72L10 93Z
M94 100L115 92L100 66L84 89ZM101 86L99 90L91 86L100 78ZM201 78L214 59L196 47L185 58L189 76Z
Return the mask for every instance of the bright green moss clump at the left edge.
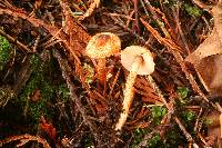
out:
M9 41L0 36L0 70L3 70L6 65L9 62L10 57L11 57L11 45Z

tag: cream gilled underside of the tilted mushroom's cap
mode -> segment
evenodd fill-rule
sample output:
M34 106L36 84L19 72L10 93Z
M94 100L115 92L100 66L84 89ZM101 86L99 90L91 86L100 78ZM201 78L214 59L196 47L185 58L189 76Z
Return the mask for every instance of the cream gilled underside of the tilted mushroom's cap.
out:
M138 56L142 57L142 62L139 66L138 75L150 75L154 71L154 61L152 53L144 47L130 46L121 51L122 66L131 71L132 65Z

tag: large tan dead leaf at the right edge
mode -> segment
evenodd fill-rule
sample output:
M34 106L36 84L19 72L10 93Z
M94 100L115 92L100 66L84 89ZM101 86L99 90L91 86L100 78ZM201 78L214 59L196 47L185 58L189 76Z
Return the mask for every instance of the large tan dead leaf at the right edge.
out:
M210 92L222 91L222 2L212 9L214 28L211 34L185 58L194 65L199 78Z

